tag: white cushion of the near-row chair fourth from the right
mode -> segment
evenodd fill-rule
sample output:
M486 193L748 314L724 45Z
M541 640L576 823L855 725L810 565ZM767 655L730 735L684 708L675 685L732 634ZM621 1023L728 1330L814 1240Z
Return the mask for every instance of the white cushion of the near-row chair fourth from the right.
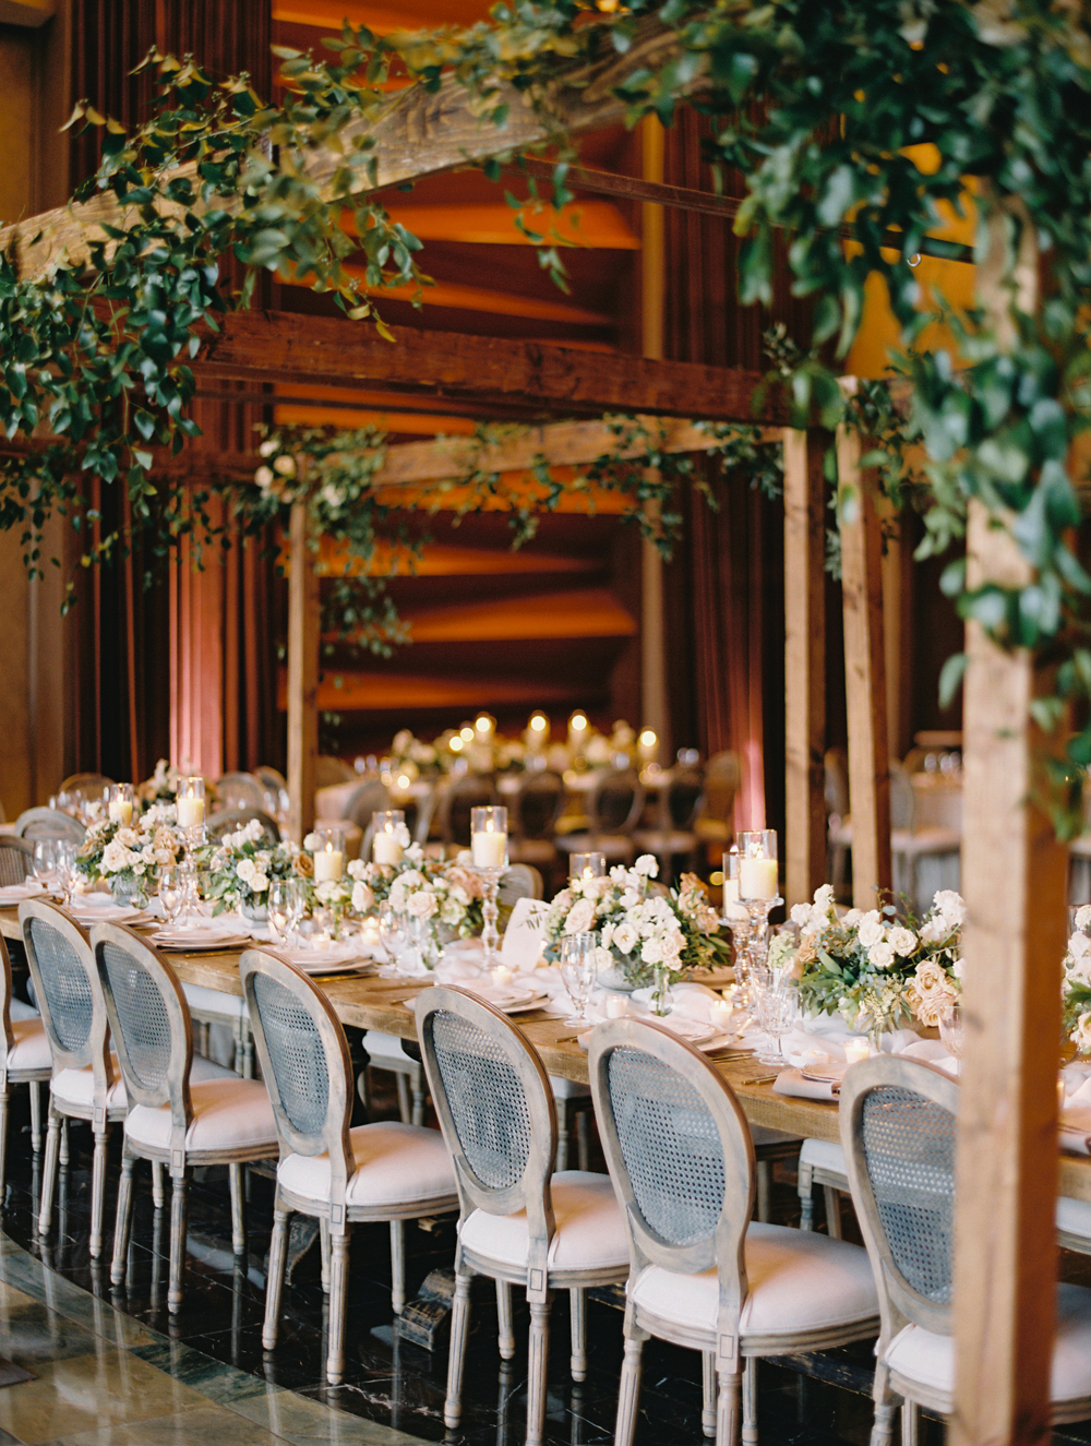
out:
M438 1129L383 1119L348 1131L355 1170L348 1177L345 1203L377 1209L384 1205L426 1205L457 1193L455 1167ZM309 1200L329 1199L329 1155L286 1155L276 1168L285 1190Z

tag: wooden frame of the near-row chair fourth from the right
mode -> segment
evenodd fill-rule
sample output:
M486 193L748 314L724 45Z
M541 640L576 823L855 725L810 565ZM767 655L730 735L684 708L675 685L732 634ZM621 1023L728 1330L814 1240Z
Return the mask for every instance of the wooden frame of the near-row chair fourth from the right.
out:
M353 1063L348 1041L341 1021L327 995L295 964L288 963L273 950L247 949L240 960L243 991L253 1022L257 1054L262 1061L262 1077L269 1087L273 1105L276 1131L280 1144L280 1160L288 1155L329 1157L329 1199L324 1203L311 1194L298 1194L285 1189L277 1178L273 1203L273 1238L269 1246L269 1271L266 1284L266 1314L262 1330L262 1345L266 1351L276 1346L280 1297L285 1284L285 1259L288 1254L288 1231L293 1212L308 1215L321 1222L324 1244L324 1283L329 1293L329 1346L327 1355L327 1379L340 1384L344 1375L345 1335L345 1291L348 1283L348 1239L350 1226L370 1220L390 1222L390 1258L393 1267L393 1306L400 1312L405 1304L405 1222L426 1215L439 1215L458 1206L458 1196L436 1196L428 1202L416 1200L402 1206L366 1206L345 1202L345 1189L355 1170L350 1139L353 1113ZM263 975L283 989L306 1011L314 1024L319 1044L325 1053L328 1096L322 1128L302 1132L292 1124L283 1108L276 1086L276 1066L266 1038L262 1011L257 1002L254 980ZM328 1267L327 1267L328 1259Z

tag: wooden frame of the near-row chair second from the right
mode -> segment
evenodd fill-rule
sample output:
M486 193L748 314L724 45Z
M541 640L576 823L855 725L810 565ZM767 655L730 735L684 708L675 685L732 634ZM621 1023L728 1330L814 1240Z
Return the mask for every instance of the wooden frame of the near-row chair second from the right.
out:
M714 1229L689 1245L665 1241L644 1219L636 1200L617 1132L607 1070L610 1056L618 1048L639 1050L673 1070L698 1095L707 1108L724 1157L724 1203ZM744 1336L740 1316L749 1283L746 1272L746 1233L754 1210L756 1155L746 1115L734 1090L715 1066L698 1050L650 1021L610 1019L595 1028L588 1047L588 1071L595 1102L603 1151L629 1228L631 1257L630 1287L647 1265L660 1265L678 1274L698 1274L715 1268L720 1281L720 1306L715 1332L698 1326L679 1326L663 1320L646 1307L626 1303L624 1362L617 1406L614 1439L627 1446L636 1427L640 1390L640 1356L644 1340L655 1335L663 1340L699 1351L704 1358L705 1430L715 1429L717 1446L733 1446L738 1426L738 1398L743 1388L743 1439L757 1439L757 1358L825 1346L847 1345L876 1333L877 1320L868 1317L847 1326L822 1326L792 1335Z

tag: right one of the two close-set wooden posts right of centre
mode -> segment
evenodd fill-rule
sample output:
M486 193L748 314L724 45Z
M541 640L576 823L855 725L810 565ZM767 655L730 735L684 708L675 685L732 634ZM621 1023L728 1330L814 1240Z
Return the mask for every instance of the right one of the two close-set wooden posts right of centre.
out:
M883 536L860 471L860 435L837 432L841 496L841 593L845 617L848 792L853 805L853 904L876 908L889 889L890 749L886 726Z

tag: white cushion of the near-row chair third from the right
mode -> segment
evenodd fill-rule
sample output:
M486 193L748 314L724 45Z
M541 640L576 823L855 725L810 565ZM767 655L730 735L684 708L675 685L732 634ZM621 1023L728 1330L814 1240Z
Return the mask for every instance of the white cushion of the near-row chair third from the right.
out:
M556 1233L549 1242L551 1270L623 1270L629 1264L629 1238L610 1176L562 1170L552 1178ZM487 1215L474 1210L462 1222L462 1245L501 1265L526 1265L529 1231L526 1210Z

